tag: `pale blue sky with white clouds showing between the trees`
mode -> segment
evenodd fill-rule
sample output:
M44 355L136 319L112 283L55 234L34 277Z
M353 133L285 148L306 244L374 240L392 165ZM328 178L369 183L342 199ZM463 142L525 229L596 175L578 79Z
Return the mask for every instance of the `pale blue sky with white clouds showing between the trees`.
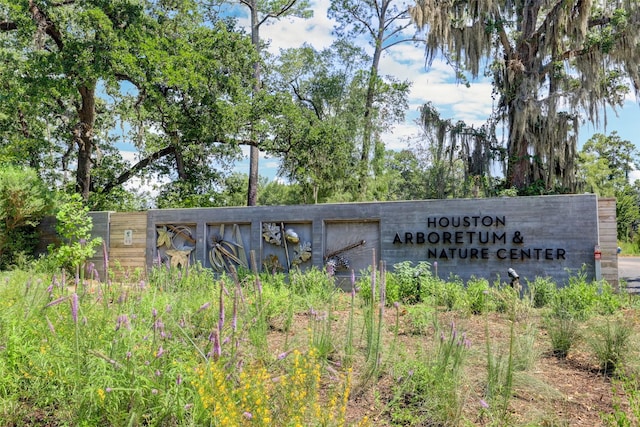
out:
M317 50L327 48L333 42L334 22L327 17L328 0L312 1L314 16L310 19L284 18L269 21L263 25L260 36L269 42L269 50L277 54L280 49L301 47L303 43L311 44ZM241 25L248 25L246 18L240 17ZM363 46L366 43L362 42ZM369 48L370 49L370 48ZM426 102L432 102L445 119L463 120L467 124L481 125L491 114L491 84L488 81L471 81L470 87L456 83L454 72L442 61L434 61L429 68L425 66L425 51L422 47L411 43L399 44L383 54L380 62L380 74L391 75L400 80L412 82L409 93L409 109L404 123L398 124L382 135L387 149L407 148L407 139L419 134L419 126L415 120L419 117L419 108ZM580 146L594 133L611 134L614 130L623 140L633 142L640 149L640 135L637 121L640 119L640 106L633 94L630 94L625 105L618 112L606 112L607 125L584 125L579 131ZM578 147L580 148L580 147ZM133 158L133 153L124 153ZM248 149L246 160L239 162L236 170L249 173ZM259 174L274 179L278 160L260 159ZM631 176L632 182L640 179L640 172Z

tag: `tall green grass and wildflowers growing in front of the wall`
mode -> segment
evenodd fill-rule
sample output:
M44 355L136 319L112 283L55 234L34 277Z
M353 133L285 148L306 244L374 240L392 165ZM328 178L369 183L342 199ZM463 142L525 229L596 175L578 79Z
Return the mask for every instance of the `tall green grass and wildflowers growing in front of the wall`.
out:
M366 425L375 421L349 417L365 391L377 396L367 410L382 422L466 425L477 386L465 376L474 369L468 356L483 349L470 348L451 319L473 313L510 322L508 348L487 331L488 377L475 392L496 423L510 421L514 372L535 362L535 328L523 318L536 317L522 316L535 298L482 279L466 288L421 268L387 281L381 264L358 281L354 274L346 293L319 269L214 276L199 265L158 265L105 282L2 274L0 425ZM581 279L545 295L539 313L549 316L593 316L622 301ZM418 348L405 347L407 337Z

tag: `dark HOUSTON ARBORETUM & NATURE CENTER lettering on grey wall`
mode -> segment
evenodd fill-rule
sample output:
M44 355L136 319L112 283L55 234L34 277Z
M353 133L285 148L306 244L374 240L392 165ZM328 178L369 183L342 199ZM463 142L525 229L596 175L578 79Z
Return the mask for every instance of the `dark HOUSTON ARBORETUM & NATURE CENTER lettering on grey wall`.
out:
M502 215L428 217L425 230L396 232L394 245L425 245L427 259L566 259L564 248L528 246L525 236L507 227Z

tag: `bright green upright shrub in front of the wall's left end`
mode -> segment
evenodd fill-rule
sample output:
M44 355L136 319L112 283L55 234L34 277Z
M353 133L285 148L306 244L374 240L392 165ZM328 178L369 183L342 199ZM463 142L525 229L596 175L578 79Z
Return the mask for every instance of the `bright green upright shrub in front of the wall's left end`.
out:
M76 272L95 254L96 247L102 243L102 239L91 238L93 221L89 216L89 208L77 193L63 198L56 213L56 220L56 231L62 243L59 246L49 246L50 256L58 267Z

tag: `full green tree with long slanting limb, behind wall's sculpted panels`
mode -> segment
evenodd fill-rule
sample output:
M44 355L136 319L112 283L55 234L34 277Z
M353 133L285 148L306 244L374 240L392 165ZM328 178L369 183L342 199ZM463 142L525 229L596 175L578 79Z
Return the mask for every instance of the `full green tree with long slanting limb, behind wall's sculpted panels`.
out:
M168 57L157 66L157 76L133 80L136 96L120 104L141 158L111 186L147 170L170 177L160 184L158 206L211 206L246 143L256 57L233 22L167 40L171 45L161 48Z

